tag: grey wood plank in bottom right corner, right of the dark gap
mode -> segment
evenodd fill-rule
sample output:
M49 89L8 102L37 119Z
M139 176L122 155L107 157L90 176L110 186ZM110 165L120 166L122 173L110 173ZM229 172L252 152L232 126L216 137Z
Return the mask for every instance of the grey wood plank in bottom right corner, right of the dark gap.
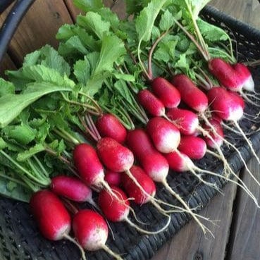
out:
M260 158L260 152L258 153ZM259 163L256 159L252 159L247 163L248 168L257 180L260 182ZM256 196L260 202L259 185L249 176L243 172L243 181L247 187ZM233 226L234 233L230 241L230 251L228 252L229 260L259 260L259 239L260 239L260 211L256 208L252 199L249 199L247 194L239 192L237 204L235 205L235 223Z

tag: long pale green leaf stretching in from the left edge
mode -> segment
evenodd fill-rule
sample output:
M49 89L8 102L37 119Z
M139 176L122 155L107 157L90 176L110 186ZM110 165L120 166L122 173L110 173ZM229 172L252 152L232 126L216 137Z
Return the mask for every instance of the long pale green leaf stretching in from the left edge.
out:
M47 82L33 83L23 94L6 94L0 98L0 128L11 123L23 109L46 94L71 91L70 87L57 86Z

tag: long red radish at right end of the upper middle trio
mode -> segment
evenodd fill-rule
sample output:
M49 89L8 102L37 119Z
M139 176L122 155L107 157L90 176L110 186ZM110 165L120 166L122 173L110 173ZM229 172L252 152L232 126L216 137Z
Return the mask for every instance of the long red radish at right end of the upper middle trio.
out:
M180 97L187 106L197 112L204 112L208 108L208 98L187 75L178 74L171 80L173 85L177 87L180 92Z

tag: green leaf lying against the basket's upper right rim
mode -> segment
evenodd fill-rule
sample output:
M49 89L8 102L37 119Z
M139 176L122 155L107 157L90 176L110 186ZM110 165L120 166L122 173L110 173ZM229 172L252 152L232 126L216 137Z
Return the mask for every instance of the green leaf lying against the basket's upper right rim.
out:
M210 42L226 41L229 39L228 34L220 27L206 23L202 19L198 19L197 24L204 38Z

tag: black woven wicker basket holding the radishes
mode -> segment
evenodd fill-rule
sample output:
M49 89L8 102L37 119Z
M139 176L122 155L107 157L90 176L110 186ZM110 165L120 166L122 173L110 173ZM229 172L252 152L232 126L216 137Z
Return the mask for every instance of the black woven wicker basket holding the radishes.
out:
M260 59L260 31L249 25L241 23L230 16L207 6L202 11L202 17L211 23L220 25L237 42L237 54L240 61ZM260 85L260 66L252 68L252 75L256 86ZM259 89L256 89L259 92ZM247 113L255 115L259 112L257 107L246 106ZM244 131L252 131L253 123L248 120L241 120L241 127ZM259 125L254 127L259 128ZM228 133L228 139L235 143L244 158L248 161L252 154L248 145L242 138ZM260 132L252 132L250 140L255 150L260 148ZM235 172L242 168L243 163L235 152L225 147L224 153L230 166ZM221 173L223 166L216 162L213 165L211 156L199 161L199 167L207 168L210 171ZM217 182L219 187L223 187L225 182L218 178L209 177L209 182ZM171 187L185 197L190 206L197 207L198 211L208 204L216 190L211 187L199 184L189 173L181 175L172 174L168 178ZM159 187L158 197L170 203L174 203L173 197L166 192L163 187ZM165 223L165 218L148 204L142 206L142 210L136 209L137 217L145 223L150 223L149 229L159 228ZM80 252L77 247L67 241L50 242L39 234L35 221L30 216L28 205L15 202L11 199L0 198L0 259L1 260L71 260L80 259ZM158 235L141 235L134 228L124 223L111 223L115 240L109 237L108 245L114 252L121 254L127 260L147 260L168 240L175 235L188 221L190 217L185 213L173 213L171 224L167 230ZM87 253L87 259L111 259L106 252L99 251Z

